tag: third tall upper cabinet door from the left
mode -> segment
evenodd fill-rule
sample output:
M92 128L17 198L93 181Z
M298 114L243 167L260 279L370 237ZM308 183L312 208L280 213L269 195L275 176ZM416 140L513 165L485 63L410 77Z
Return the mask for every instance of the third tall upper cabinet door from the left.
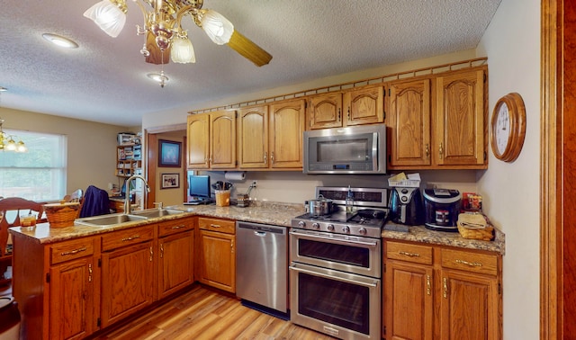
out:
M238 167L268 167L268 106L241 109L238 115Z

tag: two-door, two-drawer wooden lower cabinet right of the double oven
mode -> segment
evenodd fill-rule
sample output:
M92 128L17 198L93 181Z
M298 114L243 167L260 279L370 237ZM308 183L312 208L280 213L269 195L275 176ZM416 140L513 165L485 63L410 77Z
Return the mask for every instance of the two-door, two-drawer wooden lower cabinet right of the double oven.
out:
M501 255L386 240L383 338L500 339Z

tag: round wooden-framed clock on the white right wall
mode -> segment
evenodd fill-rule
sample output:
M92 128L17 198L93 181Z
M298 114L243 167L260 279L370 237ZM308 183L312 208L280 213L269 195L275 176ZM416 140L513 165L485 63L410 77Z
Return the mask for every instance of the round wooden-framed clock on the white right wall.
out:
M496 158L513 162L520 155L526 135L526 107L522 96L506 94L494 106L491 145Z

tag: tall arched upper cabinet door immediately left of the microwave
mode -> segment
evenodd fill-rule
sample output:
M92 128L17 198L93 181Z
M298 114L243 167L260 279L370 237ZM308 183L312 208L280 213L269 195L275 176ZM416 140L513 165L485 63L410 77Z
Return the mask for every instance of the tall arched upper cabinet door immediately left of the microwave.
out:
M270 105L270 167L302 169L305 104L299 99Z

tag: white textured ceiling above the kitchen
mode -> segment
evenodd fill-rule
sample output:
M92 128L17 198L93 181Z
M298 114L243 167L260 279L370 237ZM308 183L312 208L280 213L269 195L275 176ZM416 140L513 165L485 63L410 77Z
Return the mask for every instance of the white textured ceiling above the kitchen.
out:
M473 49L501 0L204 0L274 58L256 67L186 17L196 63L166 65L163 89L146 76L160 67L139 54L137 5L127 0L113 39L82 15L97 1L2 1L2 106L137 126L150 112ZM80 47L57 49L44 32Z

